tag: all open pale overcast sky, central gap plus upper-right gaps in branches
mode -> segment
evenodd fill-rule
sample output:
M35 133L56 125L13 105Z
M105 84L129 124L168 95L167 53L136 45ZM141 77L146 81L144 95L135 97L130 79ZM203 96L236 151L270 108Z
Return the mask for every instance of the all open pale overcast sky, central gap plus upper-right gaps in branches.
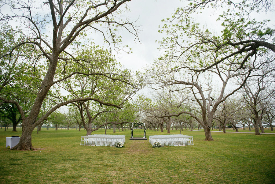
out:
M154 59L160 56L160 51L157 49L160 45L156 43L156 40L161 40L165 35L158 32L159 25L163 23L162 19L171 17L171 14L177 7L187 6L186 1L179 0L133 0L127 3L130 7L131 12L126 13L126 16L130 18L131 21L137 20L136 25L141 25L139 29L139 39L142 44L135 43L134 37L130 37L129 34L122 36L123 45L129 45L132 48L133 53L115 53L117 56L117 61L121 62L126 68L138 70L145 67L148 64L152 64ZM217 23L215 20L218 15L222 13L222 10L218 9L214 11L208 8L203 14L198 14L194 17L196 22L206 25L211 32L219 33L221 22ZM255 14L259 16L259 14ZM275 14L272 12L261 13L263 19L271 19L272 28L274 27Z

